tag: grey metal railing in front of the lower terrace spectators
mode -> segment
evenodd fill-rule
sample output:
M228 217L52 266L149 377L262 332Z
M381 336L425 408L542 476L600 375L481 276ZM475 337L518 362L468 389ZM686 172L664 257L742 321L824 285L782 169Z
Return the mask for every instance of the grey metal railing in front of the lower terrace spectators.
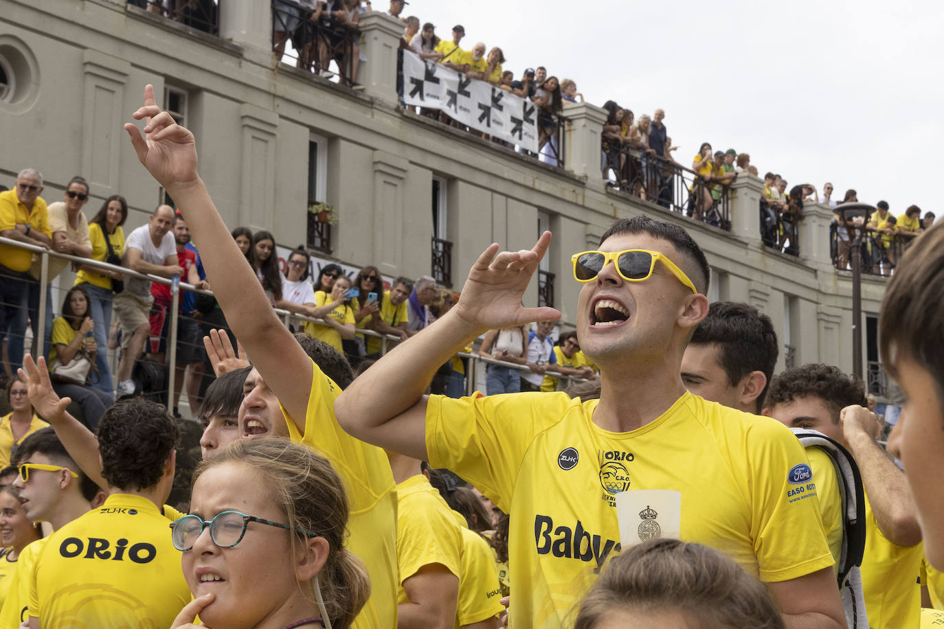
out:
M193 316L191 316L192 313L184 313L183 315L180 315L179 305L181 301L182 292L184 290L193 291L194 293L196 293L196 295L198 295L197 297L198 309L199 309L199 300L201 299L201 296L202 298L206 300L211 300L211 304L214 303L212 301L213 293L211 290L197 289L196 287L190 284L183 283L183 282L179 283L178 285L179 290L176 290L174 287L174 281L167 279L165 277L144 274L144 273L137 273L135 271L131 271L130 269L127 269L126 267L119 267L119 266L108 264L106 262L100 262L100 261L89 259L89 258L75 257L75 256L67 255L67 254L60 254L59 252L49 251L49 250L43 249L42 247L20 242L19 240L9 240L9 239L0 237L0 243L10 245L13 247L18 247L21 249L25 249L39 256L40 270L41 270L39 279L31 280L31 279L26 279L26 277L24 276L23 281L24 282L32 281L36 286L41 287L41 288L49 286L50 258L60 258L60 259L68 260L69 262L72 262L72 263L81 264L81 265L92 267L94 269L99 269L102 271L119 272L125 275L126 278L137 277L140 279L149 280L157 284L171 287L172 290L171 290L171 296L170 296L170 305L168 306L167 312L166 312L166 316L168 318L168 332L166 334L166 338L163 339L166 341L164 343L166 346L166 352L163 353L164 354L163 367L164 367L164 372L165 372L164 374L165 374L166 379L163 381L164 382L163 387L160 387L160 389L149 390L146 393L147 396L150 397L151 399L157 402L160 402L161 404L165 404L168 407L171 406L173 391L175 390L175 387L178 385L177 378L179 378L181 375L181 373L178 372L177 370L177 367L180 366L178 365L178 356L179 356L178 352L181 350L181 348L184 348L186 350L188 356L190 356L190 352L189 352L190 349L195 349L197 356L200 356L202 352L202 348L203 348L202 339L204 336L209 334L210 329L223 329L223 330L226 330L227 333L230 334L231 336L228 326L226 325L225 320L222 317L222 311L219 308L213 308L211 306L211 313L216 313L217 316L205 315L202 318L194 318ZM71 289L71 287L69 288ZM61 297L62 295L65 294L67 290L68 289L61 290L60 291L61 294L56 295L51 300L47 299L46 290L39 290L40 299L39 299L39 306L38 306L38 311L37 311L37 316L36 316L37 329L36 329L36 334L34 336L34 339L30 346L30 353L32 356L34 356L34 358L37 357L38 353L46 352L46 350L44 349L43 339L49 338L50 330L48 329L47 322L52 320L52 317L47 316L47 312L52 312L52 311L60 312L61 311L61 308L56 305L60 304ZM282 309L277 308L276 312L278 313L282 321L288 326L291 326L296 323L304 323L304 322L320 323L320 320L318 319L312 319L311 317L307 317L304 315L294 314L287 310L282 310ZM115 315L115 320L117 320L117 315ZM112 322L107 322L107 323L109 327L111 327ZM194 324L197 326L197 330L198 330L196 337L186 338L186 339L181 338L180 336L181 328L186 329L186 330L193 330ZM3 332L8 332L8 331L5 330ZM386 354L388 349L392 348L396 344L396 342L399 342L398 337L382 335L369 329L358 328L356 332L357 334L365 336L365 337L379 338L381 356ZM7 339L8 341L10 340L9 333L7 335ZM152 336L149 339L149 341L145 343L145 354L146 353L158 354L157 350L158 350L158 343L160 342L160 339L161 339L160 337L155 338L154 336ZM154 351L151 352L151 350L154 350ZM101 351L106 351L106 348L102 347ZM502 366L511 367L515 370L523 371L523 372L529 371L528 367L526 366L509 363L502 360L496 360L493 358L487 358L484 356L479 356L478 354L475 354L475 353L459 353L457 356L460 356L466 362L465 389L466 389L466 392L469 394L474 392L477 386L480 384L478 382L478 374L479 374L478 370L480 368L481 363L502 365ZM351 359L352 362L357 362L358 360L362 359L362 356L348 355L348 358ZM136 359L136 361L137 360L140 360L140 357ZM12 362L18 363L19 360L14 359ZM110 351L109 362L111 366L113 366L117 362L117 352ZM183 365L182 367L185 368L186 365ZM114 370L112 369L111 372L114 373ZM211 375L211 369L209 371L209 374ZM553 377L559 378L563 383L567 383L570 381L578 381L578 382L583 381L582 378L561 375L557 373L554 373ZM87 385L88 384L89 383L87 383ZM192 408L192 413L195 413L195 412L196 412L196 409Z

